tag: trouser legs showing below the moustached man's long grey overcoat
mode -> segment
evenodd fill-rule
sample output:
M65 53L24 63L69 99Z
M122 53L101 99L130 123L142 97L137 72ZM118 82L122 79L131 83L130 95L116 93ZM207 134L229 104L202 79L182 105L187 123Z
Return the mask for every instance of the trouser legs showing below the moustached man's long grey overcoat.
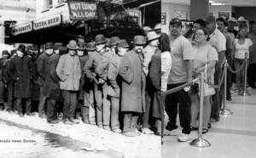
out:
M137 129L138 112L126 112L124 115L124 133L134 133Z

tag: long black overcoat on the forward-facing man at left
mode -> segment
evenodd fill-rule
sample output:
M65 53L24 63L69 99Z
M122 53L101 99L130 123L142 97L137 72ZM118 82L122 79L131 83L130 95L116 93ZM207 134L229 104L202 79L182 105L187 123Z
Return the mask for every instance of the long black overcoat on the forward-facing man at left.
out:
M9 74L15 81L15 97L29 99L32 97L32 59L15 55L9 63Z

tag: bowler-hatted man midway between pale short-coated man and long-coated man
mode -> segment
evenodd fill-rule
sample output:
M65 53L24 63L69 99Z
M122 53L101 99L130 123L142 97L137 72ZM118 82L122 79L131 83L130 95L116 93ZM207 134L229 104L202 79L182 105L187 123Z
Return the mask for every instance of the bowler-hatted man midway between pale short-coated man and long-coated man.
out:
M109 100L107 99L107 83L99 75L98 67L102 59L107 59L110 51L106 50L106 39L104 35L100 34L95 37L96 51L90 54L88 62L84 65L84 72L91 81L94 82L94 94L96 99L96 121L97 126L103 128L102 107L110 108ZM104 56L103 56L104 55ZM104 71L100 70L102 73ZM106 77L107 78L107 77ZM110 110L109 110L110 111ZM104 114L110 116L109 112ZM104 125L106 130L110 130L109 118L105 117Z

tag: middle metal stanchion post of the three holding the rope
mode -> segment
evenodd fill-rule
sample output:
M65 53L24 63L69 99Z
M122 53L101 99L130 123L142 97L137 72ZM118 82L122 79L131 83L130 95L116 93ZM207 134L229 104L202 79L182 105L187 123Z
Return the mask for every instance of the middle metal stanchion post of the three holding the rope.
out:
M225 64L224 64L224 102L223 102L223 109L219 111L219 114L221 115L231 115L233 112L230 110L226 109L226 99L227 99L227 59L225 59Z

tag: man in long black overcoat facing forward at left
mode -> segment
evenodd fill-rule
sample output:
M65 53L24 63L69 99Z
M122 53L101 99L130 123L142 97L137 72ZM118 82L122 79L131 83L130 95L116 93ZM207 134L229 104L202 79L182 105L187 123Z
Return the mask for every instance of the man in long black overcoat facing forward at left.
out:
M17 54L9 63L9 75L15 82L15 98L20 117L23 117L22 100L26 100L26 116L31 114L32 104L32 59L24 56L26 47L19 45Z

